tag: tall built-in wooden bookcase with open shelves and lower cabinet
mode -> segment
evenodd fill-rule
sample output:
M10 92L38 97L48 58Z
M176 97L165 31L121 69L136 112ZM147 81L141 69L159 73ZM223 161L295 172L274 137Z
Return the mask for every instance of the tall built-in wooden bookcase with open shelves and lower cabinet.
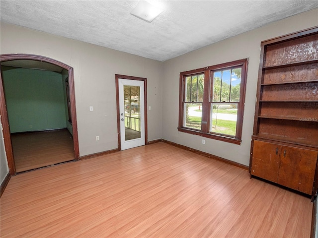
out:
M317 193L318 27L261 43L250 174Z

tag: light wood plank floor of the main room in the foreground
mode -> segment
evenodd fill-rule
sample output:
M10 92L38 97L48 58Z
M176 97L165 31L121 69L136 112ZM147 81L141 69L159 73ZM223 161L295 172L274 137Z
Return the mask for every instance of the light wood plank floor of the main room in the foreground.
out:
M12 177L1 238L309 238L311 199L163 142Z

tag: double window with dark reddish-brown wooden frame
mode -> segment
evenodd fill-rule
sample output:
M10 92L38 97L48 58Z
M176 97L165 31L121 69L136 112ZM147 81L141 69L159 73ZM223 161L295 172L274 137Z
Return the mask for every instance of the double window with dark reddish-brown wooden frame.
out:
M180 73L178 130L240 144L247 59Z

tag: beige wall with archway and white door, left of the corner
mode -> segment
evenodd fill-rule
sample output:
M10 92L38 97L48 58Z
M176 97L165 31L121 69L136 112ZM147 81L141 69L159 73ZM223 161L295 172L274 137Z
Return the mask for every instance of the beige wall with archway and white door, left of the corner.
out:
M148 140L162 138L161 62L1 22L0 54L17 53L74 68L80 156L118 148L115 74L147 78Z

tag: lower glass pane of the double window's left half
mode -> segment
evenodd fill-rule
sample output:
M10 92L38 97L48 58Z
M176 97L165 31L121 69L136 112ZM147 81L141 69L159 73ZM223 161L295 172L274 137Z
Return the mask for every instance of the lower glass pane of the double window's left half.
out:
M185 103L183 118L183 126L201 130L202 103Z

